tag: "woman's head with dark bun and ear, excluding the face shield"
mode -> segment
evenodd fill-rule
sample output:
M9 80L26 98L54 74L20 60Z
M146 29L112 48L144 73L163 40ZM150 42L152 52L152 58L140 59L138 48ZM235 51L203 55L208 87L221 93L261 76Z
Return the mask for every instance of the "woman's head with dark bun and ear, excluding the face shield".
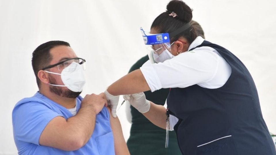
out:
M189 24L193 15L192 9L183 1L173 0L167 5L167 10L158 15L150 28L151 34L172 33ZM197 38L196 30L190 26L170 36L170 53L177 56L188 50L189 45Z

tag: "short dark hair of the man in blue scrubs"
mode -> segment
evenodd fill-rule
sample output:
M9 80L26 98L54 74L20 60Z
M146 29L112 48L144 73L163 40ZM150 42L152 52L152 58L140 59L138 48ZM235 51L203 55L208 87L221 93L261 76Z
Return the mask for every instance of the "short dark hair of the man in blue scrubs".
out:
M32 69L34 70L34 75L37 80L37 86L40 88L40 80L37 76L39 70L44 67L47 67L52 60L52 55L50 54L50 50L56 46L69 46L70 44L65 41L49 41L39 45L34 52L32 53Z

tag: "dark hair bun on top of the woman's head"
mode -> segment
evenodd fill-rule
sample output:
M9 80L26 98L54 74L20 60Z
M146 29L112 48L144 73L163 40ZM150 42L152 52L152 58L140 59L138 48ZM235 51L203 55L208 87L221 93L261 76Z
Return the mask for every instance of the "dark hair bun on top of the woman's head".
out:
M181 0L172 0L168 3L167 5L167 13L176 13L176 17L179 20L182 20L185 23L188 23L192 20L193 14L192 14L193 9L191 9L186 3L184 3ZM172 16L173 18L173 16Z

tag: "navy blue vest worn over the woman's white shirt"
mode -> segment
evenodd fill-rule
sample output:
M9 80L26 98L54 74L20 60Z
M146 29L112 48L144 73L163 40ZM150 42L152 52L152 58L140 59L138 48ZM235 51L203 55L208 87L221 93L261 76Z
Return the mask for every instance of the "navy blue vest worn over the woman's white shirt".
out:
M227 49L208 41L197 47L203 46L218 51L232 73L217 89L171 88L167 104L170 114L179 118L174 129L182 154L276 155L247 68Z

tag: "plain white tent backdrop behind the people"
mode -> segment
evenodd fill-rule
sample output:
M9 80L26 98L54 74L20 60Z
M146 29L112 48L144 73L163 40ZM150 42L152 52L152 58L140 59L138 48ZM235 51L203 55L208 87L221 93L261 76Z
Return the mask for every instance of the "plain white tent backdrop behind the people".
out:
M168 0L0 0L0 154L17 154L11 111L37 90L32 51L49 40L71 44L87 60L82 95L99 94L146 55L139 31L149 30ZM232 51L248 67L264 120L276 133L276 1L187 0L206 39ZM122 98L121 100L122 101ZM127 140L131 124L118 111ZM165 135L164 135L165 136Z

